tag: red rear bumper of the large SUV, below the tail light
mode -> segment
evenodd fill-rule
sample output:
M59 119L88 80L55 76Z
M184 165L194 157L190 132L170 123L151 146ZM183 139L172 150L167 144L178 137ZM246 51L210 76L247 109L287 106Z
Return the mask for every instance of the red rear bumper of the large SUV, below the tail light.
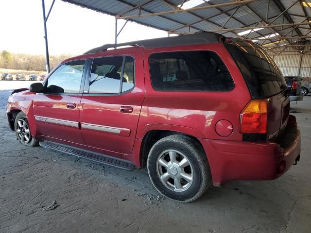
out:
M284 174L300 154L300 131L292 115L288 127L295 130L295 136L288 141L283 135L287 140L285 150L280 144L269 141L200 139L207 153L214 185L233 180L273 180Z

